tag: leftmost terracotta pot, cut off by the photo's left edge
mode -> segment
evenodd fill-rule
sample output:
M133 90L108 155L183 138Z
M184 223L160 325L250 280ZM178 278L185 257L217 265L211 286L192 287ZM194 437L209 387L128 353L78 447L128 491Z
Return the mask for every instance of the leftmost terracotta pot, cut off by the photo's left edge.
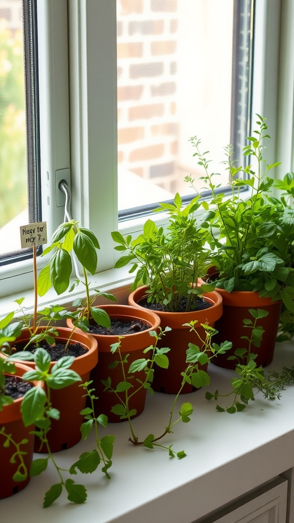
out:
M31 370L28 366L22 365L18 362L16 362L15 365L17 370L14 376L21 377L25 374L25 372ZM33 382L33 385L42 386L42 383L35 381ZM23 445L20 446L20 450L26 452L26 454L23 456L23 459L28 471L28 475L24 481L14 481L13 476L18 469L19 460L16 458L15 463L12 463L10 459L12 458L12 454L16 449L11 443L9 447L4 447L3 445L6 438L0 434L0 499L20 492L30 481L29 470L33 458L34 442L34 436L33 434L30 434L30 432L34 429L34 426L30 425L29 427L25 427L22 423L20 412L21 402L22 397L19 397L10 405L5 405L3 410L0 412L0 430L2 430L4 427L5 434L11 435L12 439L17 444L19 444L22 440L26 441Z

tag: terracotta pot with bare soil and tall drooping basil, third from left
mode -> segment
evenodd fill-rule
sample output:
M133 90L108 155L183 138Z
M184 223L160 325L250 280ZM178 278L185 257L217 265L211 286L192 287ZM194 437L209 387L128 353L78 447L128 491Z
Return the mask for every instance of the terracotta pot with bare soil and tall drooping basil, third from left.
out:
M146 347L153 344L154 338L149 333L155 331L160 325L160 318L152 311L145 309L139 311L138 308L130 307L129 305L99 305L99 309L104 309L107 314L112 318L118 318L122 321L142 321L147 323L149 328L145 331L135 332L133 334L126 334L121 340L121 354L125 358L128 354L128 363L125 368L126 371L129 369L130 364L139 359L146 358L148 355L143 353ZM70 325L71 322L68 321ZM111 412L111 407L118 404L119 400L116 395L112 392L105 391L105 386L101 383L101 380L107 380L111 378L111 385L116 388L117 384L123 380L123 374L121 366L118 365L114 369L109 369L110 363L118 360L118 354L111 354L110 345L118 342L118 336L115 335L102 335L92 334L98 342L99 348L99 366L96 366L91 371L91 380L93 380L93 388L95 388L95 395L98 396L98 400L94 401L95 412L97 415L106 414L110 423L120 422L118 415ZM130 380L133 388L132 392L140 388L140 383L136 379L144 380L144 371L136 372L134 378ZM119 394L122 400L125 400L125 393ZM142 413L145 406L146 389L142 388L139 392L135 393L129 402L130 409L134 408L137 411L136 416ZM135 416L132 416L135 417Z

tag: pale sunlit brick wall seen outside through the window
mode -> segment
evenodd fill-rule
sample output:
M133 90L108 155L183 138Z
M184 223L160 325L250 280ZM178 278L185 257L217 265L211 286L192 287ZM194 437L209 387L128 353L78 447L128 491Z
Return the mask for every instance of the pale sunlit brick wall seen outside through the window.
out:
M177 2L117 2L118 162L175 189Z

